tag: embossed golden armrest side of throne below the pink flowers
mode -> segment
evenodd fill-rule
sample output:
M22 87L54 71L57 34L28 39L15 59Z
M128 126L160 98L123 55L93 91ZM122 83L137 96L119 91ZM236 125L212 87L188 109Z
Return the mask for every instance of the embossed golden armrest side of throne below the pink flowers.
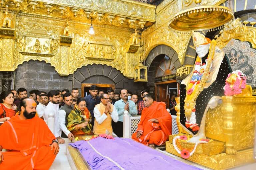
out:
M255 104L255 96L241 96L224 100L222 106L210 109L206 116L206 137L226 142L236 150L253 147Z

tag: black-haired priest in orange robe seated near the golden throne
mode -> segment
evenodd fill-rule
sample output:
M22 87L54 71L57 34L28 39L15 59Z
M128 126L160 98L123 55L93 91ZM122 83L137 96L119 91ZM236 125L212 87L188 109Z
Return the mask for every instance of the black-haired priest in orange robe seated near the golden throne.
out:
M172 134L172 117L165 108L165 103L155 102L151 94L143 97L145 107L142 110L138 129L132 139L149 147L162 145Z

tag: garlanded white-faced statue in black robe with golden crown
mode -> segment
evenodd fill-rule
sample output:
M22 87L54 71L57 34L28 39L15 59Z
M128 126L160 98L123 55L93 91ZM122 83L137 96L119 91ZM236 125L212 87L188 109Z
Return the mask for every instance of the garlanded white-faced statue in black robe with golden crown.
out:
M224 95L225 79L230 73L225 53L216 42L203 34L192 34L197 52L193 71L180 85L180 123L197 142L205 137L205 120L209 108L215 108Z

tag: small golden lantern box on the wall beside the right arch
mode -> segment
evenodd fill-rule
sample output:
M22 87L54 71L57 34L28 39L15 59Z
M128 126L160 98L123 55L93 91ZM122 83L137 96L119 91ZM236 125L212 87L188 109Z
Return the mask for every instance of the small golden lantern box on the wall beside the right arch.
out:
M148 67L139 63L134 67L134 82L147 82L148 81Z

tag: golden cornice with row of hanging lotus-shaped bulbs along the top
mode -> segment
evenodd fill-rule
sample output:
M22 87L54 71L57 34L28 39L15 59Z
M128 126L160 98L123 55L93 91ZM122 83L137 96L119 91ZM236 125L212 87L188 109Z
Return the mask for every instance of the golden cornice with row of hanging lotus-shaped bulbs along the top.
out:
M156 21L155 5L134 0L2 0L9 10L78 22L144 29Z

